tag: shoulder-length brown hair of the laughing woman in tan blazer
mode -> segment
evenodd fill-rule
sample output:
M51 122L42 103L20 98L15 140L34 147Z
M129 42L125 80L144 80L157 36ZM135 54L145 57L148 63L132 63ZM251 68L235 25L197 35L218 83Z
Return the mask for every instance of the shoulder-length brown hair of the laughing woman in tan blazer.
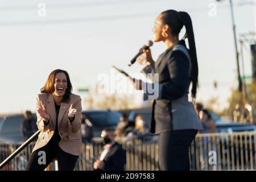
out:
M68 102L69 101L69 96L70 96L73 88L72 88L72 84L71 84L68 72L64 71L62 69L55 69L54 71L52 71L50 73L50 75L47 78L46 84L44 84L44 87L42 89L40 89L41 93L48 93L49 94L49 93L53 93L55 91L54 79L55 79L55 76L56 76L57 73L64 73L65 76L67 77L68 86L67 86L66 92L65 92L64 97L63 97L61 102Z

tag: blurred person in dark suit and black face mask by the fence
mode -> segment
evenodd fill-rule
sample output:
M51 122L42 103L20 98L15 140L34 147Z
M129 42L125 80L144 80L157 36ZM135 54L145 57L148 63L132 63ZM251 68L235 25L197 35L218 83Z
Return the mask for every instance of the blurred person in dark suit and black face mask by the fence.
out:
M104 150L100 159L93 163L93 169L96 171L124 171L126 163L126 152L121 144L114 139L114 130L110 127L102 130L101 137L104 140Z

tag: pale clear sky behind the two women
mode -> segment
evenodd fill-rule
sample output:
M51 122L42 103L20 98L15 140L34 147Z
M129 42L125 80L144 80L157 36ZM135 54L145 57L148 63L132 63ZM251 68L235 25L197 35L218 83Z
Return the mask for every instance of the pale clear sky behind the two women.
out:
M46 17L38 4L46 4ZM237 34L255 31L255 4L233 0ZM253 2L248 0L246 2ZM209 16L216 3L217 16ZM35 96L53 69L71 76L73 93L93 87L111 65L130 73L141 65L127 63L148 39L155 17L164 10L187 11L193 21L199 61L198 100L219 96L222 106L237 85L233 31L228 1L213 0L106 0L106 1L0 1L0 113L35 109ZM249 44L246 44L249 48ZM163 43L152 47L154 59ZM249 53L246 75L251 74ZM213 88L213 81L218 89Z

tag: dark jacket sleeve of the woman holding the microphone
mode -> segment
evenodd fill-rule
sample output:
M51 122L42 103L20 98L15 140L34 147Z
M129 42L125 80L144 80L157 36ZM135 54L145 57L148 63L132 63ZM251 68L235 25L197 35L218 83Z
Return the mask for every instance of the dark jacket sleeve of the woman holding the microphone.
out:
M171 82L166 82L160 89L159 99L176 100L187 92L189 86L188 57L181 51L172 52L168 60Z

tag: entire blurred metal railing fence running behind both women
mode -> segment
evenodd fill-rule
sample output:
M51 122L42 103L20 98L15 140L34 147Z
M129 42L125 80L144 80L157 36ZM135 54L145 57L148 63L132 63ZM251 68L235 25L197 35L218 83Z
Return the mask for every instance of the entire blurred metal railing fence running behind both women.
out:
M255 170L256 132L197 134L189 149L191 170ZM126 150L125 170L158 171L158 136L146 137L123 142L117 138ZM35 142L29 144L2 170L24 170ZM15 151L20 143L0 143L0 162ZM77 160L75 170L93 170L94 160L101 154L103 143L94 139L82 144L82 155ZM51 170L55 169L52 162Z

